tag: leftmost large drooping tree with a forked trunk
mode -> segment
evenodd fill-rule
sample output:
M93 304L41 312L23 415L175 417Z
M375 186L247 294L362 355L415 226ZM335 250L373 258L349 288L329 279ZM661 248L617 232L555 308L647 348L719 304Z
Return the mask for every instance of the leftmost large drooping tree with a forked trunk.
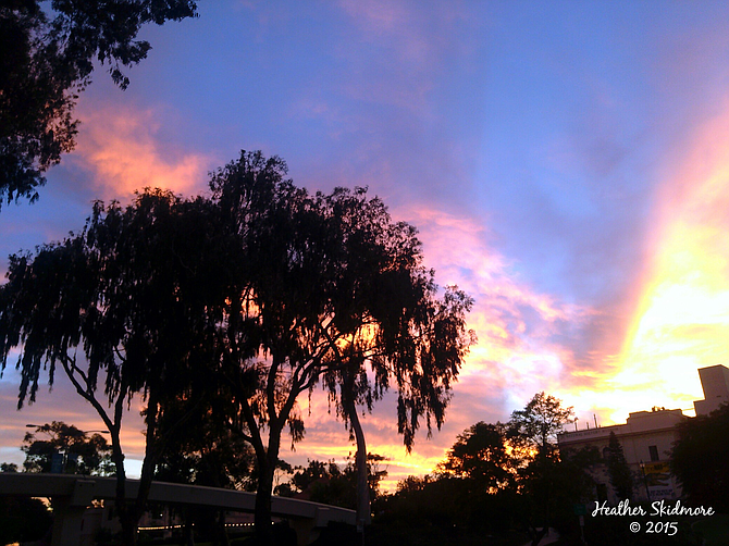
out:
M214 277L206 268L217 263L200 256L214 246L202 222L206 207L159 190L125 209L97 202L81 234L35 256L12 256L9 282L0 286L0 358L4 370L20 347L18 409L35 400L41 370L52 385L60 364L110 432L127 545L136 541L157 461L189 414L160 430L159 410L166 398L183 396L196 367L212 358L203 334L219 317L209 312ZM135 394L145 401L146 448L139 493L129 504L120 434Z

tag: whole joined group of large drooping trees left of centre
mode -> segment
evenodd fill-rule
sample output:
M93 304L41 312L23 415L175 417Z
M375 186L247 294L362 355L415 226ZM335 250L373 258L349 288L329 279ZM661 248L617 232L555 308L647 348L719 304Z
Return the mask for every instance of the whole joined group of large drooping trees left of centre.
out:
M146 402L143 484L178 423L211 392L228 400L225 426L256 454L256 522L268 541L283 431L294 443L305 432L298 397L323 382L356 432L369 501L357 406L392 383L406 447L423 418L429 433L440 426L474 339L471 300L455 287L440 295L415 227L393 222L367 189L310 195L260 152L242 152L210 188L206 199L148 190L126 208L98 202L82 233L11 257L0 358L4 369L21 349L18 407L35 399L41 370L52 383L63 368L111 433L120 491L132 396Z

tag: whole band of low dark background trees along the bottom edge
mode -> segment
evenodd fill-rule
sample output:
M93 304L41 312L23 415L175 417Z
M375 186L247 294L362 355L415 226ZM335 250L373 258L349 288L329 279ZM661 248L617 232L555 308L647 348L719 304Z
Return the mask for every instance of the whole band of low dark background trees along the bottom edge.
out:
M711 506L719 512L727 510L726 480L721 474L727 408L681 423L671 462L682 483L684 501L690 506ZM219 421L208 421L209 413L202 415L202 421L188 423L186 433L177 437L175 448L158 463L155 479L255 491L258 470L250 446L233 440ZM380 491L380 482L387 475L386 469L381 468L386 460L368 454L368 491L375 512L371 539L378 544L399 544L400 534L406 533L419 536L417 541L422 544L456 539L469 543L483 536L499 541L509 541L511 536L516 544L519 536L527 534L538 543L551 526L561 533L563 543L578 544L580 533L572 507L592 506L597 499L592 473L595 466L607 467L614 491L622 500L634 501L635 476L630 474L614 434L603 458L594 448L559 452L554 435L570 419L571 408L561 408L557 399L540 393L524 410L515 411L509 422L479 422L464 431L432 474L403 480L394 494ZM539 434L534 434L536 431ZM87 462L86 457L78 459L76 464L64 469L66 472L90 470L103 474L104 464L95 467L92 461L107 458L109 446L88 439L65 423L39 426L24 439L23 468L27 472L47 472L50 455L65 449L88 452L91 461ZM345 508L357 506L357 470L353 459L345 466L333 460L309 460L306 467L296 468L280 460L277 469L281 476L274 488L276 495ZM17 466L9 463L1 468L3 472L17 470ZM224 512L198 507L177 509L175 513L184 523L186 544L191 543L194 534L212 538L215 544L227 544ZM38 524L29 524L27 518ZM629 533L623 520L588 518L590 544L611 544L616 539L625 544L701 542L692 533L690 522L680 522L677 536L642 537L641 542L641 537ZM39 538L50 523L45 507L20 498L0 501L0 521L4 522L7 531L2 536L7 541ZM337 536L334 543L346 544L346 541Z

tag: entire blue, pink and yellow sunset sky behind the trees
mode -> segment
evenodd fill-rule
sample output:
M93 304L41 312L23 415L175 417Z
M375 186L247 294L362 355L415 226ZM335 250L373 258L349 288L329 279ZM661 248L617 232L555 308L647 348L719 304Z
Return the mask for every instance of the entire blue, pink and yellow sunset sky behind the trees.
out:
M540 390L582 429L689 410L696 369L729 364L726 2L201 0L199 14L144 29L153 49L126 91L95 72L76 150L37 203L0 211L3 278L8 255L78 231L94 199L196 195L242 149L282 157L311 191L369 186L419 228L438 284L474 298L479 337L443 430L412 455L392 396L364 417L390 487ZM0 461L23 461L26 423L102 426L65 377L22 411L17 385L9 364ZM354 452L325 397L301 404L307 435L283 459ZM140 431L132 411L131 460Z

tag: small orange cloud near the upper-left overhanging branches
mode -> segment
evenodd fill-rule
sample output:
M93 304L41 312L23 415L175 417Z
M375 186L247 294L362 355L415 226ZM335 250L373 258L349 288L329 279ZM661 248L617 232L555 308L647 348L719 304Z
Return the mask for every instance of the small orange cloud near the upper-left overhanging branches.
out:
M103 199L127 198L145 187L190 195L205 189L214 162L165 144L155 112L109 107L81 110L76 162L94 173Z

